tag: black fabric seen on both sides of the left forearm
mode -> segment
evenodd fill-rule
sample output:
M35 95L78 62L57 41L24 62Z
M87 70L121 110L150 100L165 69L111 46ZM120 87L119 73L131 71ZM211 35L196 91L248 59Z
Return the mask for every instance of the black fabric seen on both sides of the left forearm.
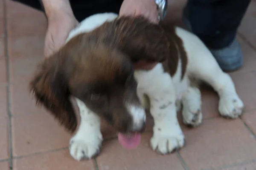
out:
M13 0L32 8L44 11L41 0ZM118 14L123 0L70 0L74 15L79 22L84 18L103 12Z

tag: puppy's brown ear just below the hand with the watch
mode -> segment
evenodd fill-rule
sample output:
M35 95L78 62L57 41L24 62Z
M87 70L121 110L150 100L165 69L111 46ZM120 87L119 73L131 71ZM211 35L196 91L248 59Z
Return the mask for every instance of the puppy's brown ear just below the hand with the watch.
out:
M105 23L105 41L118 47L130 56L136 64L158 63L169 56L169 41L163 28L150 23L144 17L119 17L112 23Z

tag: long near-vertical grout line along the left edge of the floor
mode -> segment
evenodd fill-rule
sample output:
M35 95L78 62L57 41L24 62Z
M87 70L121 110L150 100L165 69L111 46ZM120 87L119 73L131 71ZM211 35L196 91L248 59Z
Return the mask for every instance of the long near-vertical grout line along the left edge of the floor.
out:
M8 26L7 26L7 5L6 0L3 0L3 15L4 15L4 32L5 32L5 57L6 57L6 72L7 72L7 102L8 102L8 117L9 117L9 169L13 169L13 142L12 142L12 109L11 109L11 92L10 92L10 58L9 58L9 45L8 45Z

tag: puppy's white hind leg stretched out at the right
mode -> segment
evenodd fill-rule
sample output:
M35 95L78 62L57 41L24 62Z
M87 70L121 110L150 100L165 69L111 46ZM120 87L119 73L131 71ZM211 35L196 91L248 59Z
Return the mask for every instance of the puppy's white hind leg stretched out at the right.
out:
M190 72L193 76L210 84L220 97L219 112L228 118L241 115L244 104L239 98L231 77L224 73L209 50L201 48L199 55L192 59Z

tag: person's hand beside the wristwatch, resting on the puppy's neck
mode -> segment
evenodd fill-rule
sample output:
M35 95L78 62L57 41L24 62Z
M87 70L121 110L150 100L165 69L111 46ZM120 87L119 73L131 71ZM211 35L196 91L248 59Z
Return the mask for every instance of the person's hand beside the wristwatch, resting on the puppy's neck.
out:
M158 23L157 5L154 0L124 0L119 16L144 16L152 23Z

